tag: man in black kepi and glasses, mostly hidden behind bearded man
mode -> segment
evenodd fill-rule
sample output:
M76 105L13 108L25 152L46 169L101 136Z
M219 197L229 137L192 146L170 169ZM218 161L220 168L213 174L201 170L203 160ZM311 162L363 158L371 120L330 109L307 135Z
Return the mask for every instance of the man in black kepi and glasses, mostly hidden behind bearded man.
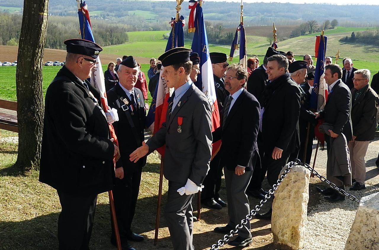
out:
M225 105L225 98L229 96L229 92L224 86L224 76L229 64L225 53L211 52L209 53L213 69L213 79L215 80L216 98L218 104L218 112L220 119L222 110ZM221 200L219 190L221 188L222 167L219 166L221 154L216 154L210 162L210 169L204 179L204 189L201 192L201 202L208 208L221 209L226 207L225 201Z

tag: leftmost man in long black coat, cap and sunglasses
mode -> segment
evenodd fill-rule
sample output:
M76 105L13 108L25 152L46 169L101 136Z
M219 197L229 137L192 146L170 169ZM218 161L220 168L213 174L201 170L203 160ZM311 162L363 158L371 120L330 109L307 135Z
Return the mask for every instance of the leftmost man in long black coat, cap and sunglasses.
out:
M58 192L59 249L89 249L97 194L112 189L118 147L100 93L86 80L102 48L83 39L64 44L66 65L46 91L39 181Z

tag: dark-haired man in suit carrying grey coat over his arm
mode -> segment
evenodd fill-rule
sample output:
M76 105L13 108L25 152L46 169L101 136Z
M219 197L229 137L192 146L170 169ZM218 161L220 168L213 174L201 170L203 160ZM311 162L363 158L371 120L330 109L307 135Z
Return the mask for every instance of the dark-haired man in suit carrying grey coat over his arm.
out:
M345 61L346 62L346 61ZM325 123L333 125L333 129L329 129L330 137L337 138L343 133L346 141L352 139L352 122L351 122L351 92L349 87L342 82L342 69L338 64L329 64L325 66L324 79L329 85L329 95L324 110L316 113L316 118L324 118ZM330 151L330 137L325 134L325 141L328 145L327 152ZM343 150L341 148L341 150ZM342 176L341 176L342 177ZM342 179L342 178L341 178ZM336 184L336 183L335 183ZM336 184L338 186L338 184ZM338 186L343 188L342 186ZM331 195L325 197L330 201L343 201L344 195L340 195L331 188L325 190L318 189L323 195Z

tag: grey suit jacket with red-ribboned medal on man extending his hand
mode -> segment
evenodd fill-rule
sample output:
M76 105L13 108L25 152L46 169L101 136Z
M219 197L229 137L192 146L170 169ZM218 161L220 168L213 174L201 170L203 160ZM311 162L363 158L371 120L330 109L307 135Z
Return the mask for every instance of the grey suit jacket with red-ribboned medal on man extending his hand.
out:
M146 144L149 154L166 144L163 159L166 179L182 183L190 179L201 186L212 152L211 106L194 83L172 107L171 116L166 113L166 122Z

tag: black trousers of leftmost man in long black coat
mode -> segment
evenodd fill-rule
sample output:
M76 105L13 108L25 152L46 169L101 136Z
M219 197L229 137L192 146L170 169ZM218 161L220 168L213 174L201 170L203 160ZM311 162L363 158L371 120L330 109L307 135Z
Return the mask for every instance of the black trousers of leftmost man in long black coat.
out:
M62 206L58 218L59 250L88 250L97 194L77 197L57 192Z

